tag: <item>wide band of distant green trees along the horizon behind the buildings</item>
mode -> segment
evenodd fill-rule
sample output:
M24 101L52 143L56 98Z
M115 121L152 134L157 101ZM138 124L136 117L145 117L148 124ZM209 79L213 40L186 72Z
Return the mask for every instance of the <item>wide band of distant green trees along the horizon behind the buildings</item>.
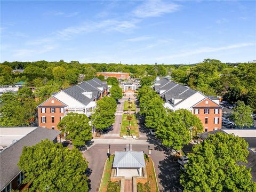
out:
M3 62L0 63L0 84L25 81L35 86L37 97L47 97L53 91L65 89L79 81L95 77L97 72L126 72L131 77L171 76L172 80L187 85L206 95L222 96L225 100L244 101L256 110L256 64L222 63L205 59L194 65L123 65L116 63L58 62ZM12 73L24 69L23 73ZM79 74L83 74L83 79Z

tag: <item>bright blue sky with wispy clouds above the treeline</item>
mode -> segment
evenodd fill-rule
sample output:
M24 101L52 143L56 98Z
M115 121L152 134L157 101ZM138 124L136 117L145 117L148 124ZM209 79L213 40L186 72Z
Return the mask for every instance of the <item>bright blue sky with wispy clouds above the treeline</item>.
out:
M1 62L256 60L255 1L1 1Z

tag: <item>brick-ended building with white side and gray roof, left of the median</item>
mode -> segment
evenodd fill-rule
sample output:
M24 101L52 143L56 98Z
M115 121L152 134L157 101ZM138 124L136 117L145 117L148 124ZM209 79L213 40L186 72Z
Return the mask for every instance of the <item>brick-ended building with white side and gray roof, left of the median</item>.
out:
M96 101L108 93L107 89L106 82L94 78L54 93L37 106L39 126L57 129L60 120L70 112L90 117Z

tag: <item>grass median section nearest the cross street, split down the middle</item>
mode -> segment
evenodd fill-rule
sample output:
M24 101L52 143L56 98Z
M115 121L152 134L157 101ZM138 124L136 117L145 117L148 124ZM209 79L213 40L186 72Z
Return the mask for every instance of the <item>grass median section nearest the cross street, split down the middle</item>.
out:
M123 119L122 119L122 125L121 125L121 131L120 131L120 136L123 137L123 135L128 135L126 127L129 127L129 120L127 120L127 114L123 114ZM138 129L138 123L137 123L137 118L135 114L131 115L131 130L130 130L130 135L136 135L139 137L139 129Z

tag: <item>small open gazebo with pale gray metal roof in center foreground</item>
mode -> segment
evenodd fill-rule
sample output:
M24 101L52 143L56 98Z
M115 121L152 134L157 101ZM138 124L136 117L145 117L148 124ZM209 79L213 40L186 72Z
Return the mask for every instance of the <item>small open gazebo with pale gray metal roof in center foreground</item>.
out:
M116 151L113 167L116 168L116 177L142 177L142 167L145 167L143 151Z

